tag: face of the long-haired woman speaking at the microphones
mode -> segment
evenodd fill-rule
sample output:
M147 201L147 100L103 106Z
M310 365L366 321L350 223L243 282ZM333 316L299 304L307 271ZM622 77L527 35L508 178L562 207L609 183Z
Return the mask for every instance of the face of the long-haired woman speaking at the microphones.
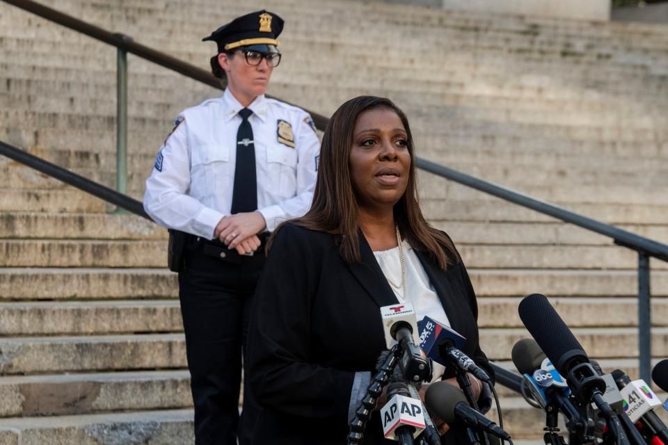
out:
M411 169L408 134L395 111L360 113L353 129L350 172L361 209L394 206L406 191Z

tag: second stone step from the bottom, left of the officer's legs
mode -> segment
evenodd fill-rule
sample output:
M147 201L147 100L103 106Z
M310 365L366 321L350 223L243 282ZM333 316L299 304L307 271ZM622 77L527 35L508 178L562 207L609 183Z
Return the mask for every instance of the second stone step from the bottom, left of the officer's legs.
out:
M173 410L193 405L186 370L3 377L0 394L4 401L0 418Z

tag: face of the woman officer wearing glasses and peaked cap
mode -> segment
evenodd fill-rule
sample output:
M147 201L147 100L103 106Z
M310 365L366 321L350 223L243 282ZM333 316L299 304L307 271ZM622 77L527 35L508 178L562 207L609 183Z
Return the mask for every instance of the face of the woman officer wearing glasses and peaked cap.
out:
M255 97L267 91L273 67L267 64L266 58L262 58L260 65L253 66L246 62L243 51L237 51L231 56L218 54L218 63L228 76L228 87L240 102L250 104Z

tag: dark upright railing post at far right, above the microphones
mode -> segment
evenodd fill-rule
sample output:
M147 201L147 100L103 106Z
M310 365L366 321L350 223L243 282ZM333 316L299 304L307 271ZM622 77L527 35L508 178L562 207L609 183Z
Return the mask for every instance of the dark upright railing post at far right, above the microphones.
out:
M651 385L652 318L649 289L649 255L638 252L638 352L640 378Z

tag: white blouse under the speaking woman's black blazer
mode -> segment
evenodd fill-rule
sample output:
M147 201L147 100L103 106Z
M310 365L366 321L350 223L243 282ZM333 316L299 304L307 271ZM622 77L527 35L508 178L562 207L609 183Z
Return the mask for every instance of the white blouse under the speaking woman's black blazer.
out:
M399 257L399 248L389 250L380 250L374 252L374 257L378 261L385 278L390 282L390 288L395 292L399 302L410 302L415 309L417 321L422 320L424 316L434 318L439 323L450 327L450 321L447 319L443 305L440 304L438 294L434 286L429 282L429 277L417 258L415 250L406 241L401 241L404 248L404 258L406 266L406 295L402 295L403 289L397 289L392 283L401 286L401 257ZM434 362L434 376L431 382L440 380L445 366Z

